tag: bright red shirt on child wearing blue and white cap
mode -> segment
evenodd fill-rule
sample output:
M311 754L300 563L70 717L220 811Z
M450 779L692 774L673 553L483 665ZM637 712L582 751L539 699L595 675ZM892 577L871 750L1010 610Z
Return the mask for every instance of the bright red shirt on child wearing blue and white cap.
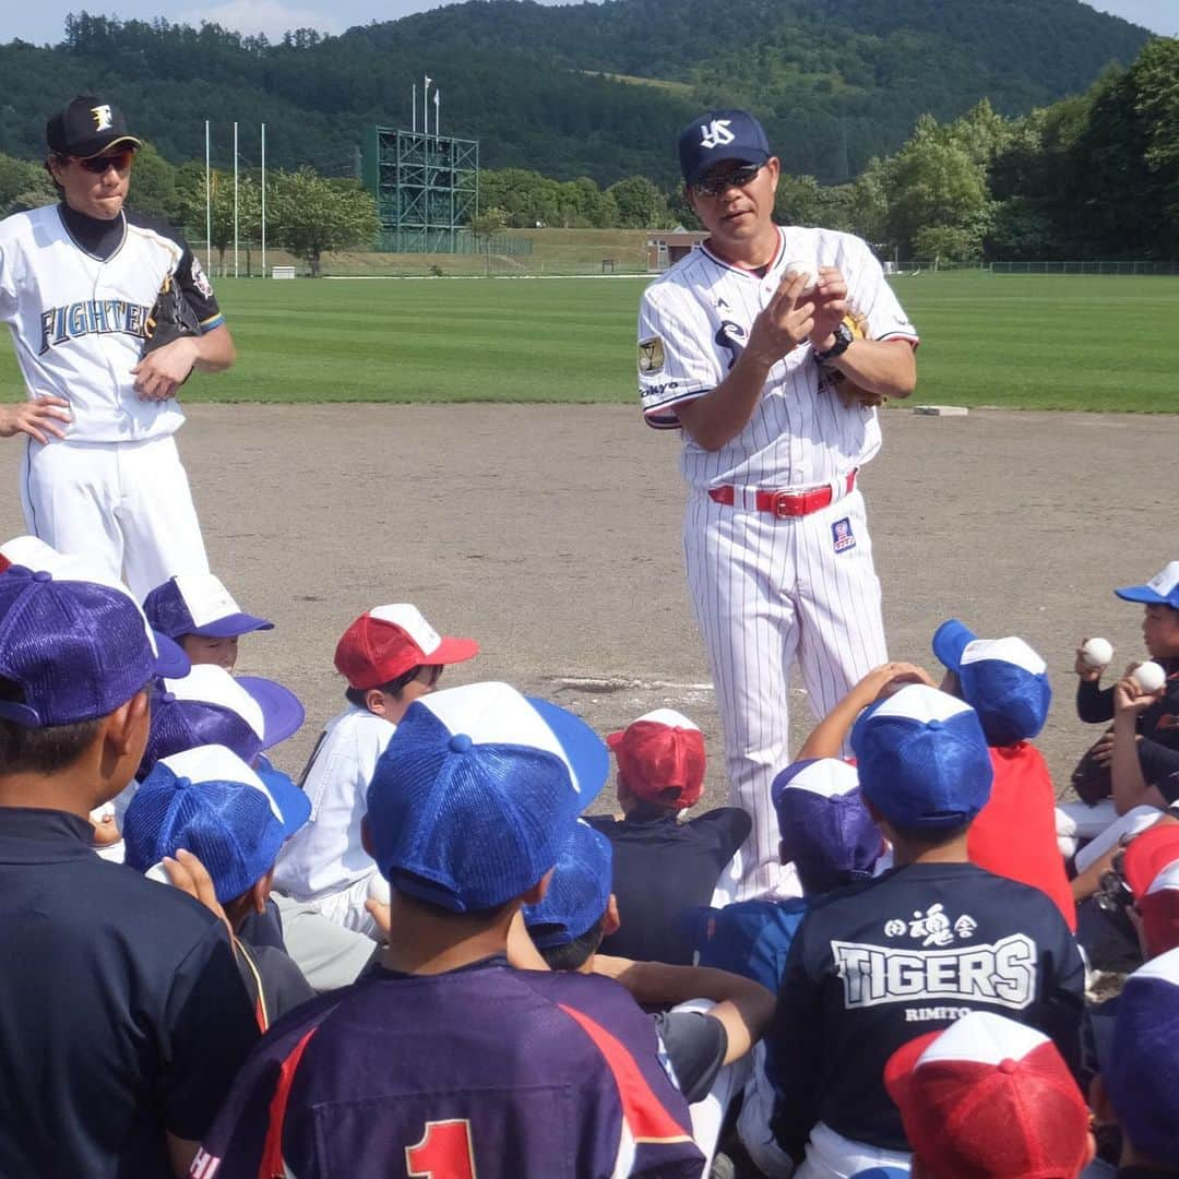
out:
M1076 903L1056 847L1056 796L1043 755L1029 742L992 746L990 802L970 824L970 862L1050 897L1076 931Z

